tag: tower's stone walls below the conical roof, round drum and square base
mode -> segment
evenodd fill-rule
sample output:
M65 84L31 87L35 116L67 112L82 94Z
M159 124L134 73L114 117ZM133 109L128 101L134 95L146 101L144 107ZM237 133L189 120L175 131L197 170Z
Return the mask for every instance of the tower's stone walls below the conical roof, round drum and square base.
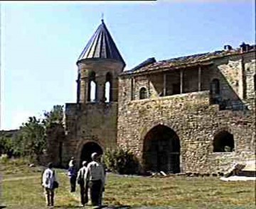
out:
M78 103L67 103L65 107L63 164L68 164L70 157L80 163L83 147L88 142L103 151L117 145L118 75L123 68L122 62L111 59L92 58L78 62ZM92 72L95 73L95 101L88 99ZM110 81L110 102L105 101L107 81Z

